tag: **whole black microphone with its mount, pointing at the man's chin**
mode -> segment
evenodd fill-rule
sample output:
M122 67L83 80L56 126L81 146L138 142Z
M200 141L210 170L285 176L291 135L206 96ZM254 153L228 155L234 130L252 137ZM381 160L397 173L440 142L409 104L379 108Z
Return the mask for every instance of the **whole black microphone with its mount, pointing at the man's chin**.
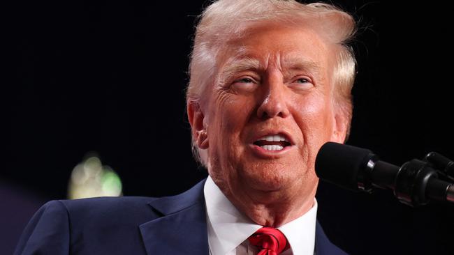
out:
M431 200L454 203L454 185L440 180L444 174L427 161L411 160L397 167L371 150L328 142L318 151L315 171L321 180L349 190L393 190L400 202L413 207Z

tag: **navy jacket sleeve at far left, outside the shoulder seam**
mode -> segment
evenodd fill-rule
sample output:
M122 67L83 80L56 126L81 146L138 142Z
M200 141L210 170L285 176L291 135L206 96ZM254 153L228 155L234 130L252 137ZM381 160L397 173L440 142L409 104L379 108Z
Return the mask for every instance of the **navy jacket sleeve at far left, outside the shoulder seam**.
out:
M66 206L61 201L47 202L30 219L14 254L69 254L69 231Z

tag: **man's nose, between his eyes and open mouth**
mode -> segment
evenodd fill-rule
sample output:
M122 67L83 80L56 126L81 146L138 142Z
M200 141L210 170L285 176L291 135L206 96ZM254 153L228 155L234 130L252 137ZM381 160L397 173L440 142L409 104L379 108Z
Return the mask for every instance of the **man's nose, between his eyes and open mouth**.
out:
M286 118L289 114L286 98L285 84L279 79L270 79L266 84L265 98L257 109L257 116L261 119L281 117Z

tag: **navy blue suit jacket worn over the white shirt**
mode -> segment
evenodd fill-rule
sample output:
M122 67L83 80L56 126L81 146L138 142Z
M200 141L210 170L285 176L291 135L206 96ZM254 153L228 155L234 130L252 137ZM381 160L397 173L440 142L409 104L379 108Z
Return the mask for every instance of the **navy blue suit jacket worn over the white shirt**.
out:
M208 255L203 184L177 196L50 201L15 254ZM316 226L316 255L345 254Z

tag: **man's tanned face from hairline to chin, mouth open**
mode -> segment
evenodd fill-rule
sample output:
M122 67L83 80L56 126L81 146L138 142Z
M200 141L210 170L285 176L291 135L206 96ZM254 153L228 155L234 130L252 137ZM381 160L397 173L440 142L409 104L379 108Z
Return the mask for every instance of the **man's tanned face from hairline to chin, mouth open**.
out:
M200 108L208 171L229 199L315 194L318 149L345 137L333 109L335 47L310 29L270 25L226 43Z

